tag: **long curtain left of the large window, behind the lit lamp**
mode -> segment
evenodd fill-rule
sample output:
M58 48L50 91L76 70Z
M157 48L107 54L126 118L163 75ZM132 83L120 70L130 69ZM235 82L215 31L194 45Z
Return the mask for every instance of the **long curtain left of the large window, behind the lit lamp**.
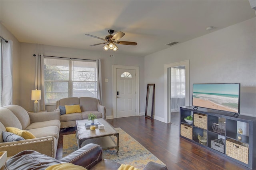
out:
M41 90L41 100L38 100L38 110L45 110L44 102L44 55L36 54L35 89ZM32 89L32 90L35 90Z

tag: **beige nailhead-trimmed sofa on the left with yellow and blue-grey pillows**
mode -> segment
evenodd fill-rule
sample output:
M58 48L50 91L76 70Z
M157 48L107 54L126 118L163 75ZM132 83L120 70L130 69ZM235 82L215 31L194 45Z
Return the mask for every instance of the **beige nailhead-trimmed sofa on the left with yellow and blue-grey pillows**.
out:
M6 127L14 127L31 132L36 138L4 142L2 131ZM0 108L0 150L13 156L23 150L36 150L53 158L56 157L60 132L60 113L30 113L18 105Z

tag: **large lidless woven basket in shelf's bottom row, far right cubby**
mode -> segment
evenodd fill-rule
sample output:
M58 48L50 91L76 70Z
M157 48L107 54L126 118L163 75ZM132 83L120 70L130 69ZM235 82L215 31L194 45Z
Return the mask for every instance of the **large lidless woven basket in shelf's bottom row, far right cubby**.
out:
M226 155L248 164L249 145L233 139L226 140Z

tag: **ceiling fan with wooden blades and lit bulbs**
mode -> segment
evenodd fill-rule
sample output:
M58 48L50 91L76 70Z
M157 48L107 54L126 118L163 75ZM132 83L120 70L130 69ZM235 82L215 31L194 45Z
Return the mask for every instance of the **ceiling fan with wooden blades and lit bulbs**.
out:
M130 42L130 41L118 41L120 38L122 38L125 34L121 31L117 32L114 36L112 36L112 34L114 33L114 30L108 30L108 33L110 35L106 36L105 39L104 38L100 38L97 36L93 36L90 34L85 34L87 36L93 37L93 38L98 38L100 40L106 41L106 42L102 42L99 44L93 44L90 46L97 46L100 44L106 44L103 48L104 50L108 51L108 49L111 49L113 51L118 50L118 47L116 46L116 44L123 44L123 45L132 45L132 46L136 46L137 42ZM116 44L115 44L116 43Z

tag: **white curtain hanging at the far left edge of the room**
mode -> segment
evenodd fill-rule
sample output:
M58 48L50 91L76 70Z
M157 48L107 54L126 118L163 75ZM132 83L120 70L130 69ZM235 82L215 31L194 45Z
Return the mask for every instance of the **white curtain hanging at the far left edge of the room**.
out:
M1 106L12 104L12 41L1 39Z

